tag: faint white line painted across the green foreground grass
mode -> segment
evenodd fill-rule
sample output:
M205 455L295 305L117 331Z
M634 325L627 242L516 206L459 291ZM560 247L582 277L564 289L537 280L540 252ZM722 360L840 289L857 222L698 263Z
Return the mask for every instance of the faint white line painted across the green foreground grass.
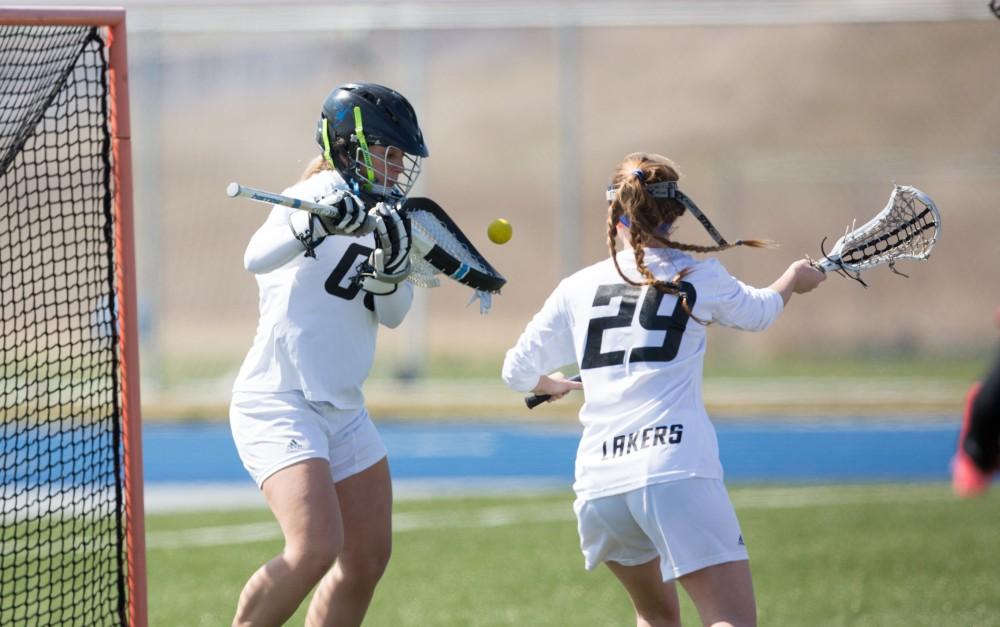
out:
M737 510L784 509L862 503L912 503L953 498L939 485L808 486L738 488L733 490ZM568 523L574 519L572 497L557 505L490 506L474 511L437 510L393 516L394 533L423 529L478 529L515 524ZM170 550L192 546L221 546L281 539L277 523L250 523L156 531L146 535L148 549Z

